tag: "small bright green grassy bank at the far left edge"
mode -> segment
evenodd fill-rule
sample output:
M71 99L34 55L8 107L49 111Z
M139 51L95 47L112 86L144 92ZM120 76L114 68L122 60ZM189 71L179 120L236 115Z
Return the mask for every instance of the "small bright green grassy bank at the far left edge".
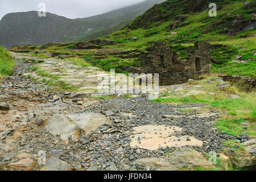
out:
M13 57L4 48L0 46L0 77L4 75L11 75L15 61Z

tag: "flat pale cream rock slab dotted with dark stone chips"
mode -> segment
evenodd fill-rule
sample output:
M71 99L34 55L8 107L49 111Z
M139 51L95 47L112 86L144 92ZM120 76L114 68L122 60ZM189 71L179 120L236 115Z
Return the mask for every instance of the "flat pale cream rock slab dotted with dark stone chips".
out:
M203 146L203 141L194 137L183 135L176 137L175 131L181 132L181 127L164 125L144 125L134 127L134 135L131 135L131 147L139 147L146 150L158 150L159 147L183 147ZM189 140L187 140L189 138Z

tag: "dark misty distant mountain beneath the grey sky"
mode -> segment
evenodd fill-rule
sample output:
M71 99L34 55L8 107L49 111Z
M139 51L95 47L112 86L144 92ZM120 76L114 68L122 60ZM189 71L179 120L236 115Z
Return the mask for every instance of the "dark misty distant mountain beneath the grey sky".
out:
M0 21L0 45L10 48L16 45L73 42L86 36L97 38L119 30L155 3L164 1L148 0L109 13L78 19L51 13L47 13L46 17L39 17L37 11L10 13ZM95 34L104 30L105 33Z

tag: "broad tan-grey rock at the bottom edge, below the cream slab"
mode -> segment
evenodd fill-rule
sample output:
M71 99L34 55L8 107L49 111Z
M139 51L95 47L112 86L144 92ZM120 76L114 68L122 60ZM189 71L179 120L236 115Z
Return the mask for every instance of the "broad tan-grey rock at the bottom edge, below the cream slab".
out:
M136 160L135 163L156 171L176 171L184 168L213 167L201 153L191 148L180 148L178 151L168 154L166 159L143 158Z

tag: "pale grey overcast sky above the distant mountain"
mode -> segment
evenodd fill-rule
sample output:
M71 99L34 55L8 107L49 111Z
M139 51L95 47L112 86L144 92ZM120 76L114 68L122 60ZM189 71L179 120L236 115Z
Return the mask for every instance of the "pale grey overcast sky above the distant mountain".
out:
M7 13L38 11L39 3L45 3L49 13L67 18L85 18L142 1L146 0L0 0L0 19Z

